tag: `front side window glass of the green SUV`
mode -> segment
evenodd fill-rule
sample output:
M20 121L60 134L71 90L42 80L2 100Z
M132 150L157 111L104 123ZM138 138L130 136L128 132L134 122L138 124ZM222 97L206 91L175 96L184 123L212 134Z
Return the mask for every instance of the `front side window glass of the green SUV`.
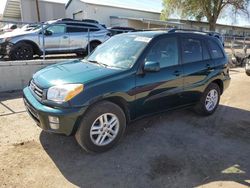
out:
M160 67L178 64L178 42L176 38L165 38L155 43L145 58L146 61L159 62Z

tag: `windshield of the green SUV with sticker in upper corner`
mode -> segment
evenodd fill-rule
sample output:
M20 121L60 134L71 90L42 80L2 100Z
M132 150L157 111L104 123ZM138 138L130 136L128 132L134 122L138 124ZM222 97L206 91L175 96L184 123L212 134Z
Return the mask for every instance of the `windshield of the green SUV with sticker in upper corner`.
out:
M117 35L107 40L87 57L87 61L121 69L131 68L151 38Z

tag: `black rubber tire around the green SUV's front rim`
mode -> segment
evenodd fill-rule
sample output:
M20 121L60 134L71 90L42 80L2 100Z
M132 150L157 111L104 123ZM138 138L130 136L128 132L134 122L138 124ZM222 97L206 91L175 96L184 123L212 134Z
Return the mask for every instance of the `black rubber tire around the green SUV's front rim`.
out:
M92 141L93 136L91 138L90 131L91 131L92 125L96 122L97 118L106 113L111 113L117 117L119 128L117 130L116 136L110 143L100 146L94 143L94 141ZM114 103L111 103L108 101L102 101L102 102L95 104L86 112L86 114L84 114L80 122L79 128L75 134L75 138L78 144L87 152L99 153L99 152L107 151L110 148L112 148L114 145L116 145L117 142L122 138L125 129L126 129L126 117L125 117L123 110Z

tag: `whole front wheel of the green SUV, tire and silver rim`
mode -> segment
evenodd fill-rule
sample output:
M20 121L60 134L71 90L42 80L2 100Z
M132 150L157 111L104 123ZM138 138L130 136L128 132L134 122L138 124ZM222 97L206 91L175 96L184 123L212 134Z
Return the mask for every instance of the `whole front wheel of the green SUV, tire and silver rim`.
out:
M123 110L114 103L103 101L87 111L75 138L86 151L104 152L121 139L125 128Z

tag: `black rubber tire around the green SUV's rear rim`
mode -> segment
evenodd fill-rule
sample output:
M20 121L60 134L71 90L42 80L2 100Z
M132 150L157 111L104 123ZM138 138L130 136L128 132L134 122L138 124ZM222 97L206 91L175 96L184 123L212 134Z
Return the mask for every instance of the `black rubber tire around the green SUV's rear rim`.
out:
M217 92L218 100L216 104L214 105L214 107L212 108L212 110L208 110L206 108L206 99L208 97L209 92L212 90L215 90ZM216 83L209 84L206 90L204 91L202 97L200 98L199 102L194 107L195 112L204 116L213 114L220 103L220 96L221 96L221 91L220 91L220 87L218 86L218 84Z

